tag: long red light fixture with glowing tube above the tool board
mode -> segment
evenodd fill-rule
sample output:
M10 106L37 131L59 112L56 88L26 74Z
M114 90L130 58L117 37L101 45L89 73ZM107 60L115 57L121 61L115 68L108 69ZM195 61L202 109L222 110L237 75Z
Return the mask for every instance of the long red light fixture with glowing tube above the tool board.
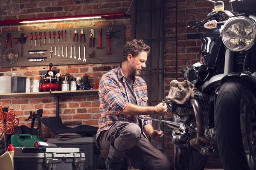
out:
M32 18L32 19L24 19L24 20L0 21L0 25L71 21L71 20L90 20L90 19L97 19L97 18L112 18L112 17L124 17L124 16L125 16L125 14L123 12L120 12L120 13L109 13L109 14L92 14L92 15L77 15L77 16L64 16L64 17Z

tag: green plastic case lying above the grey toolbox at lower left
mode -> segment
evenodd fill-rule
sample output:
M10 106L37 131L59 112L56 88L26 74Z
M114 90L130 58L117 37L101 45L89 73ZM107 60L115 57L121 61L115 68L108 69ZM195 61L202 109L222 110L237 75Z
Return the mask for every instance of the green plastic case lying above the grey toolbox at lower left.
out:
M37 135L18 134L11 136L11 144L14 147L34 147L35 141L43 141Z

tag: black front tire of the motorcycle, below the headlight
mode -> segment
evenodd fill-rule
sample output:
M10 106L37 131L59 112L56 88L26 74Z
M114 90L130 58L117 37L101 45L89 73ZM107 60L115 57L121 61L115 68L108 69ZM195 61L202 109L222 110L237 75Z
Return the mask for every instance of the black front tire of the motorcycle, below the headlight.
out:
M215 128L219 155L224 170L250 170L241 129L241 99L250 83L230 79L221 85L215 103ZM243 121L243 120L242 120Z

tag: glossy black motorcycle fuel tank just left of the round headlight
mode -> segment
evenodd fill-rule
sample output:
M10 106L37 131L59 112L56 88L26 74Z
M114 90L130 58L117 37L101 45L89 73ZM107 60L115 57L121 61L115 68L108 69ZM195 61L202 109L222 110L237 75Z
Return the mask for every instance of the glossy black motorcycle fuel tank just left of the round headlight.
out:
M207 31L207 33L201 37L200 63L209 68L214 68L221 44L220 28Z

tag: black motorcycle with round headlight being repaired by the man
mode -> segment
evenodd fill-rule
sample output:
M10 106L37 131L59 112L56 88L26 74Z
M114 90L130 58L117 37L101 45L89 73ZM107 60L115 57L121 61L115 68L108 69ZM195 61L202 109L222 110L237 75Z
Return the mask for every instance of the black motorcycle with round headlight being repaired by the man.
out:
M175 169L204 170L208 156L220 156L224 170L256 170L256 2L230 0L239 13L233 15L222 1L207 1L214 10L187 27L209 29L200 63L182 71L194 98L166 102L174 115L167 125L174 129Z

